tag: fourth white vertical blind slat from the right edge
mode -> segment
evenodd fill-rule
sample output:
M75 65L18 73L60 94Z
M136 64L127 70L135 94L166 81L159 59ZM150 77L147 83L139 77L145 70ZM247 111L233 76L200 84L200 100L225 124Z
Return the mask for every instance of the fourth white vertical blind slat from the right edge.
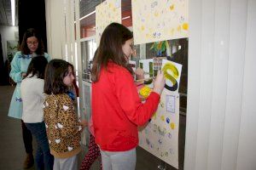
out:
M207 169L207 152L212 107L213 45L214 45L214 11L212 0L202 1L201 16L201 67L200 109L198 120L198 142L196 146L195 169ZM207 137L207 138L206 138Z

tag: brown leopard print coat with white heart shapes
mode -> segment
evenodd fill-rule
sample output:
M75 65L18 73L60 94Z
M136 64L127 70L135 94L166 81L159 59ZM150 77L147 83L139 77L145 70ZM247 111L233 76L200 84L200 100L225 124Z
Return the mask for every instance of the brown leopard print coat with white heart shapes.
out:
M53 156L67 158L79 153L82 127L73 101L67 94L50 94L46 97L44 122Z

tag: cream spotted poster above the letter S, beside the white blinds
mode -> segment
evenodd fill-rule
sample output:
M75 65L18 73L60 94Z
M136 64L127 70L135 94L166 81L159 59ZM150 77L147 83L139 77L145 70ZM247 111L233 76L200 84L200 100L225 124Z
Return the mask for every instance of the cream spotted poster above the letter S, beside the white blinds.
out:
M131 0L134 43L188 37L189 0Z

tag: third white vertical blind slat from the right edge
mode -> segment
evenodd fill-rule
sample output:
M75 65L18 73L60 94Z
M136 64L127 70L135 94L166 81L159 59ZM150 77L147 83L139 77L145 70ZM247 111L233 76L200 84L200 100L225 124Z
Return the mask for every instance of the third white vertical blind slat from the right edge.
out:
M220 169L229 61L230 1L215 1L212 107L207 169ZM210 110L211 109L211 110Z

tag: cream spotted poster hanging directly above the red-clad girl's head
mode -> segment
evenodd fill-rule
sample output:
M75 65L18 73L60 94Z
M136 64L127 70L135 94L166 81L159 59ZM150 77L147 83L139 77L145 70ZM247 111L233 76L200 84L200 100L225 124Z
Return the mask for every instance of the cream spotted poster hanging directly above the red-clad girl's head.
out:
M121 0L107 0L96 6L96 44L99 46L102 32L112 22L121 23Z

